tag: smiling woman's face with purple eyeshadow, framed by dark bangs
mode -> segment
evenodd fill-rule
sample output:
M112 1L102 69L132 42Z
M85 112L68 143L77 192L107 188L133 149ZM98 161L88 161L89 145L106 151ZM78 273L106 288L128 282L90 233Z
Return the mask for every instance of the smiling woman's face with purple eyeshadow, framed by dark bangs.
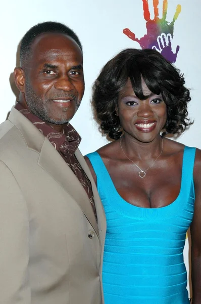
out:
M142 79L145 100L136 97L130 79L119 93L117 113L124 133L141 142L153 141L167 120L166 104L162 95L152 93Z

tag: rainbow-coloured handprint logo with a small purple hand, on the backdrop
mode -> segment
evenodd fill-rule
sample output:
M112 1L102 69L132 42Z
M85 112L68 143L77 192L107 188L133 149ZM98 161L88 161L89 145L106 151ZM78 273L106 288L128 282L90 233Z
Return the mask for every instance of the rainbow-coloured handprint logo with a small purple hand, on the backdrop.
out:
M172 39L174 36L174 23L181 12L181 6L179 4L177 5L173 20L168 22L166 19L168 0L163 0L163 15L161 19L159 18L158 9L159 0L153 0L154 19L150 19L148 0L142 0L142 3L144 19L146 21L146 34L138 39L129 28L125 28L123 33L133 41L138 42L142 49L155 49L171 63L174 63L177 59L179 46L177 46L176 52L174 53L172 51Z

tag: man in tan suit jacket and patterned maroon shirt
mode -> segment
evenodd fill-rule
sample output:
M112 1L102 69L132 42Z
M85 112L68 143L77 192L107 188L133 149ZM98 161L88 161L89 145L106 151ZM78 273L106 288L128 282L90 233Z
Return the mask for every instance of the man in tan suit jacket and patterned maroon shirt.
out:
M0 126L0 303L100 304L106 220L68 123L84 93L82 46L63 24L23 37L19 102Z

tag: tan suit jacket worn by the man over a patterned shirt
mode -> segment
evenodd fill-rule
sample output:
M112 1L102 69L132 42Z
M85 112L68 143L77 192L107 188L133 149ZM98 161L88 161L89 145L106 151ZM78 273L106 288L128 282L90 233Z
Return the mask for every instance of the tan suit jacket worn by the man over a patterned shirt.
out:
M103 304L106 218L52 144L18 110L0 126L0 303Z

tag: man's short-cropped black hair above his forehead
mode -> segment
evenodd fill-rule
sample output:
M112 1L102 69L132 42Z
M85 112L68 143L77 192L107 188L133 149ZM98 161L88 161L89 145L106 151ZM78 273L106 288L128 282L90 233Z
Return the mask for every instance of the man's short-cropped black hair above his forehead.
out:
M34 39L40 34L49 32L63 33L68 35L78 44L82 51L81 42L76 33L71 28L60 22L42 22L31 27L22 38L20 47L20 66L23 66L26 63Z

